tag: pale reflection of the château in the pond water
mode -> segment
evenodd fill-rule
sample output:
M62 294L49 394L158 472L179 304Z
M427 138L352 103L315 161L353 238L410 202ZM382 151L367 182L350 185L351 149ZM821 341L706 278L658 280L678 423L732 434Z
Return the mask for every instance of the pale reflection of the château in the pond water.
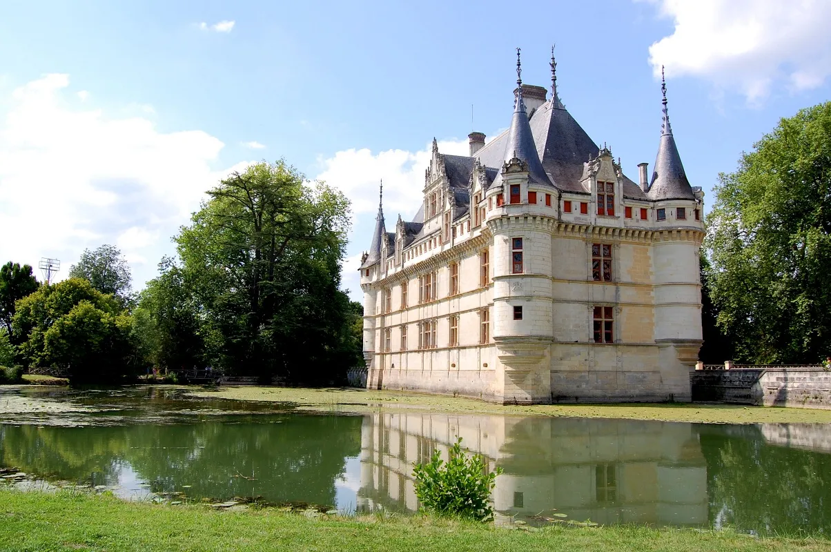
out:
M497 521L565 514L602 524L706 525L695 426L656 421L381 412L361 428L359 510L418 509L412 466L448 447L482 454ZM556 510L555 510L556 509Z

